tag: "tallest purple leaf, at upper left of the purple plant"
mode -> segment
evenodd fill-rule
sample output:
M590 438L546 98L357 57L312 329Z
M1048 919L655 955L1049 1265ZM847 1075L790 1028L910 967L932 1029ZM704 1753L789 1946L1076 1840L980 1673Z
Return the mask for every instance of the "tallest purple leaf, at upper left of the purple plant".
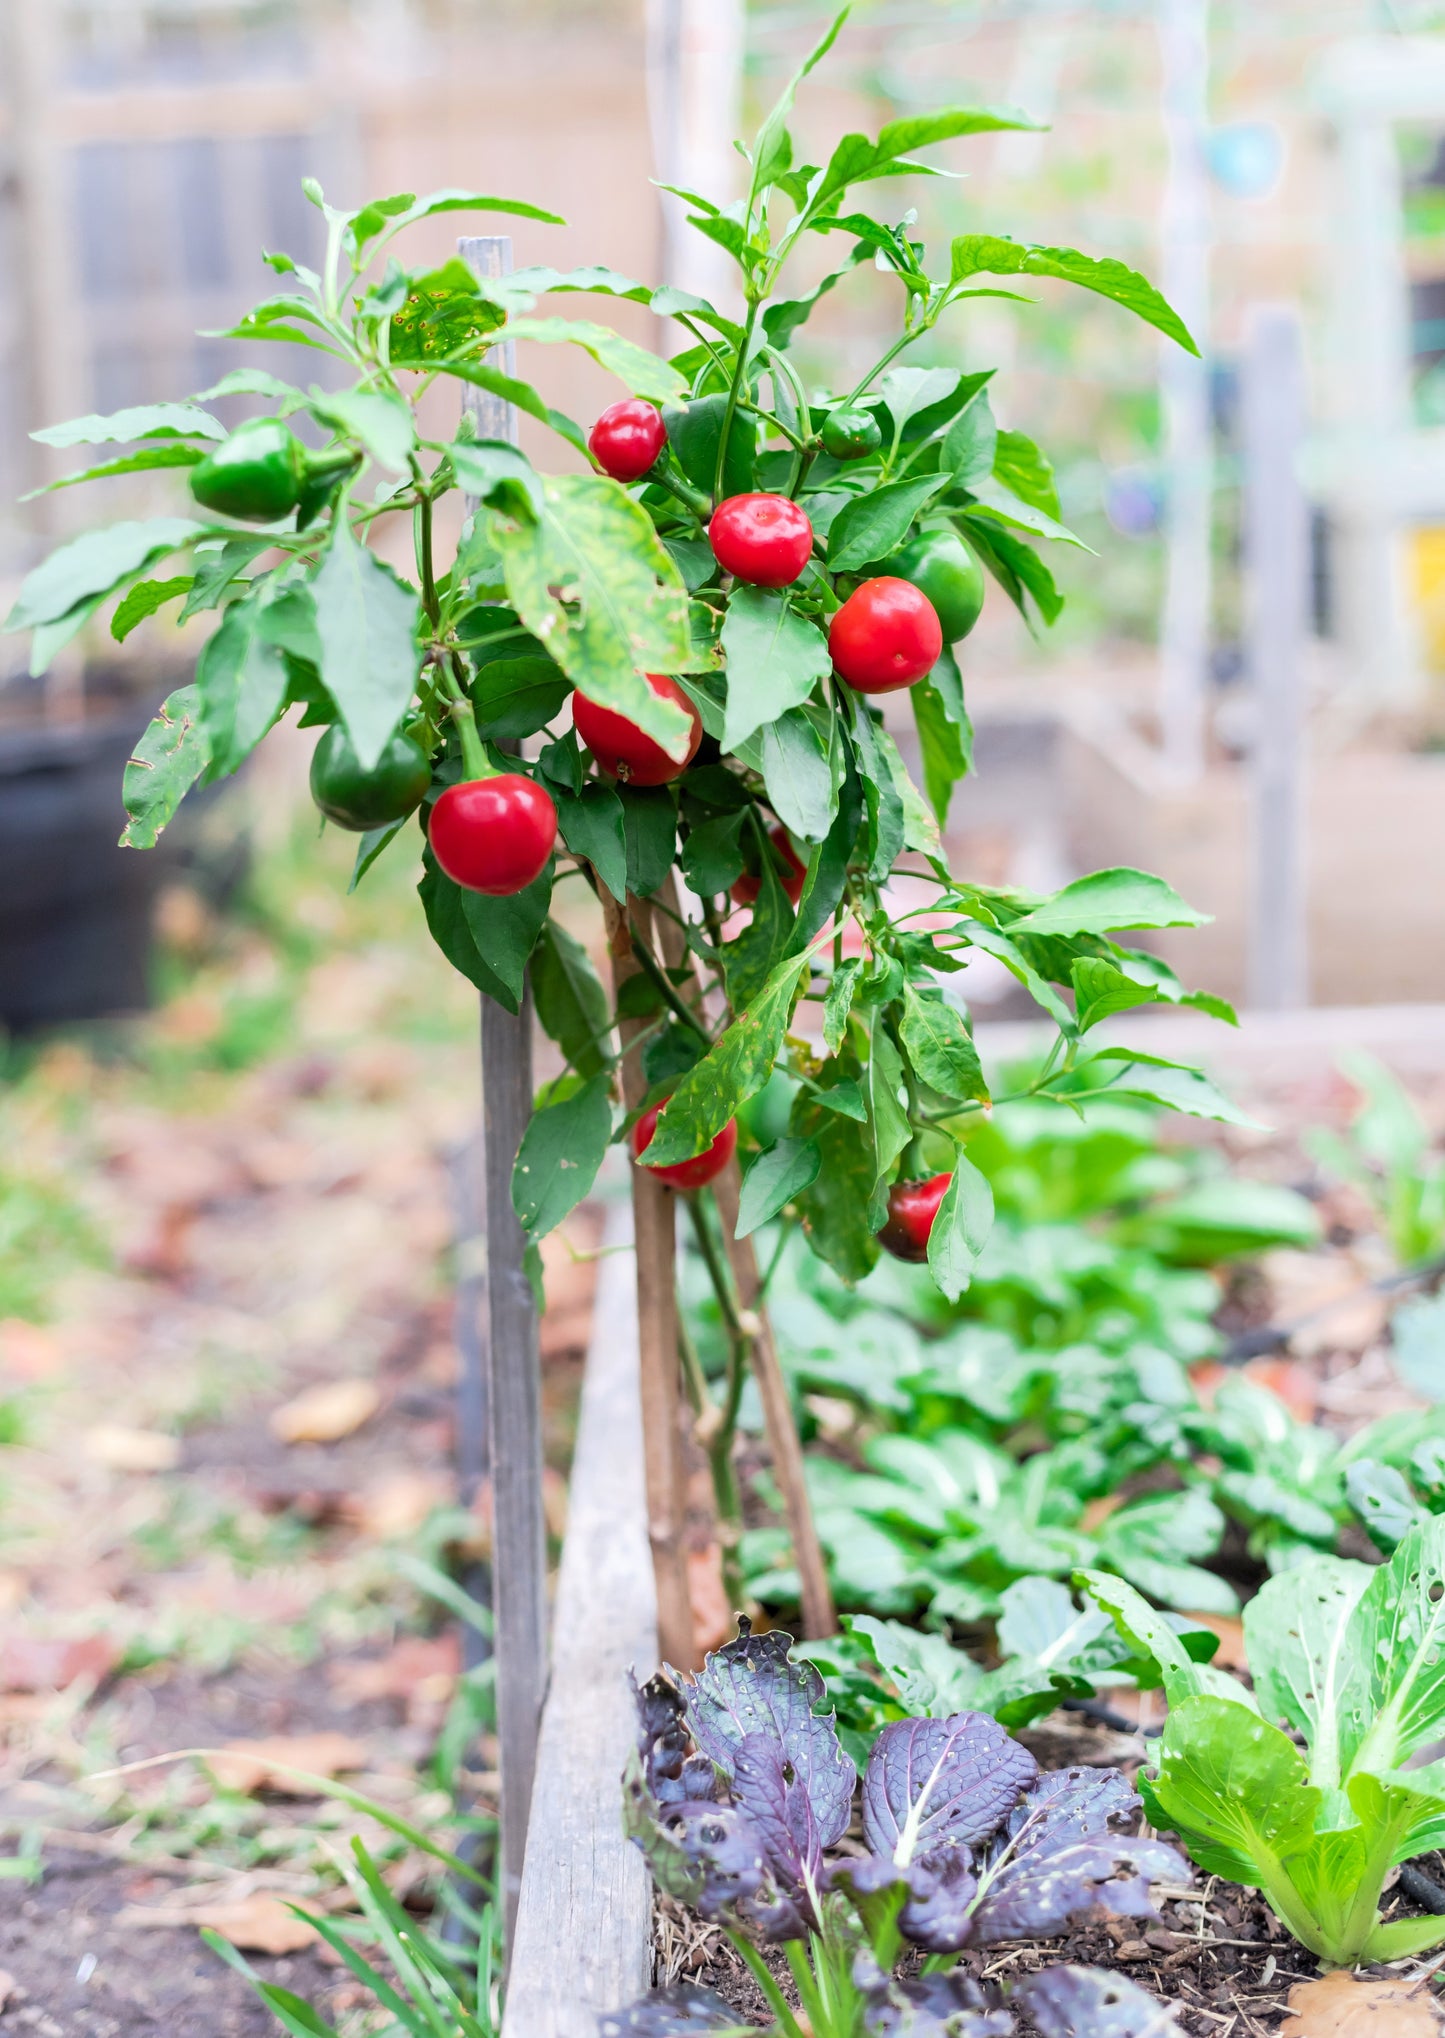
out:
M754 1740L754 1769L756 1740L774 1742L807 1793L817 1844L832 1846L848 1828L854 1767L838 1745L832 1712L813 1712L823 1700L823 1679L811 1663L793 1663L791 1647L791 1634L772 1630L754 1637L752 1624L740 1620L736 1641L713 1651L701 1671L683 1683L687 1724L740 1798L736 1767L744 1742Z

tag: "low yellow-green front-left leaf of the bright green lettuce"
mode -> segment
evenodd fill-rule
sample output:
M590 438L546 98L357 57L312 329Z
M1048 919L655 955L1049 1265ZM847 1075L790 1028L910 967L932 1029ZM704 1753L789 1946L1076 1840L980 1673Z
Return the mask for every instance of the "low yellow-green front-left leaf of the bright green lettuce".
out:
M1304 1757L1266 1720L1221 1698L1170 1702L1149 1775L1149 1816L1209 1875L1257 1889L1274 1861L1306 1848L1323 1806Z

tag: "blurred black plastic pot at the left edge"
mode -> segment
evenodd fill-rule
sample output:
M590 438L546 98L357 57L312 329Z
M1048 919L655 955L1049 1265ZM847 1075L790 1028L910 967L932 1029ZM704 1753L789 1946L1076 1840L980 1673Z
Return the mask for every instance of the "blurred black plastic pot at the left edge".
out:
M0 732L0 1027L29 1033L149 1003L155 899L185 834L116 846L120 776L145 709Z

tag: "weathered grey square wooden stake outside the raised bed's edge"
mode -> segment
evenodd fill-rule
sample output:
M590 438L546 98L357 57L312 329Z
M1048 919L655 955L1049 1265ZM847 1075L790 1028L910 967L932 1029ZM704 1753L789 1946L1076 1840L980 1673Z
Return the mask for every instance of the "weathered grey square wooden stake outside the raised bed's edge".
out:
M512 236L457 243L477 275L510 275ZM512 344L503 348L507 373ZM512 406L469 389L479 438L516 440ZM536 1736L546 1692L546 1522L542 1516L542 1382L526 1237L512 1209L512 1164L532 1115L532 990L516 1017L481 1001L481 1117L487 1206L487 1412L491 1429L491 1606L497 1653L497 1763L501 1769L499 1897L512 1954L522 1859L532 1808Z

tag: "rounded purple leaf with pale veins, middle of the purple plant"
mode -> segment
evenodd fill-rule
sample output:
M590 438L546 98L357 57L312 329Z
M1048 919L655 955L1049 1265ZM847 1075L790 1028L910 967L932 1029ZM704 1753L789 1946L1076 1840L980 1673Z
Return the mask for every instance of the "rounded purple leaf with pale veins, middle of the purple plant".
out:
M995 1832L1037 1777L1025 1747L984 1712L895 1720L862 1783L862 1836L901 1867Z

